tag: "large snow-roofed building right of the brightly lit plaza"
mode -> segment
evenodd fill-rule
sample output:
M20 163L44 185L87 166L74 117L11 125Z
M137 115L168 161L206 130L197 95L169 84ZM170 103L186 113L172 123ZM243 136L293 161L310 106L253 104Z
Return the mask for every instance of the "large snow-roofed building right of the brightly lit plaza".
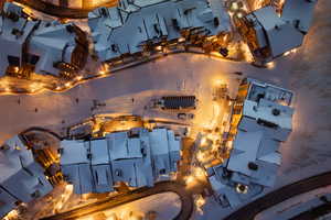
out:
M238 206L274 186L281 163L279 146L292 129L292 92L246 79L234 105L229 158L207 169L216 199Z

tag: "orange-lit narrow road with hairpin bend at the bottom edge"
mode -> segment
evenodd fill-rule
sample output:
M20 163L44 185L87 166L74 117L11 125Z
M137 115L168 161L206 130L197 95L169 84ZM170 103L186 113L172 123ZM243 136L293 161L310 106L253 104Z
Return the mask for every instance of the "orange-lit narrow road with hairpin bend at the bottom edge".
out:
M192 195L185 190L185 186L180 185L175 182L160 182L157 183L152 188L142 187L126 195L119 195L116 197L103 199L94 204L70 210L67 212L43 218L41 220L73 220L78 217L84 217L98 211L105 211L107 209L111 209L161 193L174 193L180 197L182 207L180 213L174 218L174 220L189 220L191 218L194 209L194 201Z

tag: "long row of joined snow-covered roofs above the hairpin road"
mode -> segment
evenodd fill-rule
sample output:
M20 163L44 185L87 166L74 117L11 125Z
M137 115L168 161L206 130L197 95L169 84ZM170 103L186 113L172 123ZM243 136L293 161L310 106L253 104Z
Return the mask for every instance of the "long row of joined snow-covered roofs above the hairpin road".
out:
M118 183L151 187L177 172L180 150L181 140L171 130L134 129L102 139L62 141L61 168L76 194L114 191Z

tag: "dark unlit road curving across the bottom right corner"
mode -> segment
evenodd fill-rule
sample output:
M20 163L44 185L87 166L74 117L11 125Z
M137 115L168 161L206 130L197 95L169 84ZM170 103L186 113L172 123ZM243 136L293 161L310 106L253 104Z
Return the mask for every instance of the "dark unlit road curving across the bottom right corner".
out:
M291 197L329 185L331 185L331 172L309 177L297 183L284 186L279 189L276 189L275 191L271 191L266 196L260 197L255 201L242 207L241 209L231 213L223 220L254 220L256 215L268 208L271 208L273 206L276 206ZM330 204L328 205L328 207L330 209ZM323 211L321 212L321 215ZM302 215L302 219L305 219L303 217L307 217L307 215L311 215L311 212L303 212ZM295 217L293 220L302 220L300 217L301 216Z

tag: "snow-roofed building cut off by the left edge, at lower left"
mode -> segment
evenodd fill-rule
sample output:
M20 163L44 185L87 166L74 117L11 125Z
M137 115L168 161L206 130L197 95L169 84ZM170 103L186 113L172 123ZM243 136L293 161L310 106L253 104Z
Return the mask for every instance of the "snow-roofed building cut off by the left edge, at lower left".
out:
M45 196L53 187L19 136L0 147L0 218L20 202Z

